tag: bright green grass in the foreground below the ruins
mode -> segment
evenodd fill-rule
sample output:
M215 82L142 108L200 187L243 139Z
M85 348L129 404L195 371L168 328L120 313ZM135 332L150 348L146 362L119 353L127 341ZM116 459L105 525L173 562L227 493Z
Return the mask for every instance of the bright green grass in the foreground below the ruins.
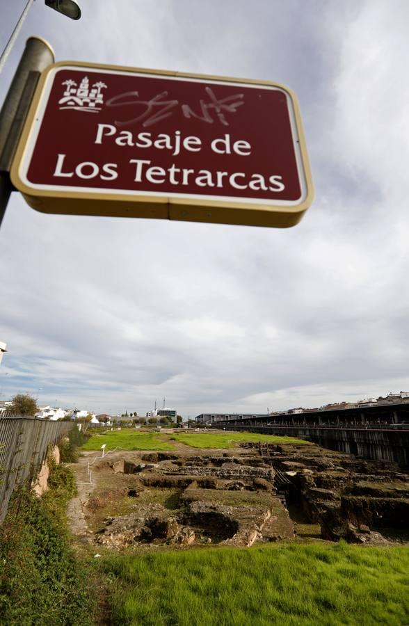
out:
M405 547L265 545L104 556L111 623L134 626L409 623Z

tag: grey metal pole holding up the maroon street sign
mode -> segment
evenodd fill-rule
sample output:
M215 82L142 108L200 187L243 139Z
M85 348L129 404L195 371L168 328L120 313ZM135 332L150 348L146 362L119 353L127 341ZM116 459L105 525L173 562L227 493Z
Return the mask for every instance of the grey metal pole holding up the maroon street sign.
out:
M30 37L0 111L0 225L13 185L10 167L40 73L54 63L54 50L39 37Z

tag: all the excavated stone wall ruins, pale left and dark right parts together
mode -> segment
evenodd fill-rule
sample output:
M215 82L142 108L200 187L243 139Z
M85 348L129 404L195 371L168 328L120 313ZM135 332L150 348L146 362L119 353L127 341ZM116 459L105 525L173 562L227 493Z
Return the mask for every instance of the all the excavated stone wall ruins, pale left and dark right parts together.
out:
M247 444L220 454L148 453L106 461L132 474L134 511L108 517L99 544L250 546L294 540L287 503L319 524L325 540L387 543L409 519L409 476L389 462L364 461L315 445ZM138 504L146 490L177 490L176 508ZM291 507L289 506L291 509Z

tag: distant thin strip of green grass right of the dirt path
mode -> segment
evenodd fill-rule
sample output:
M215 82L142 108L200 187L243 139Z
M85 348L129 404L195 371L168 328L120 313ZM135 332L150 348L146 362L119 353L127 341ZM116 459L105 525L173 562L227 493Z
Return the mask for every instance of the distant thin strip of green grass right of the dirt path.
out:
M241 442L266 442L270 444L291 443L294 445L311 445L308 441L294 437L279 437L278 435L258 435L257 433L177 433L170 437L173 441L193 446L194 448L233 448Z

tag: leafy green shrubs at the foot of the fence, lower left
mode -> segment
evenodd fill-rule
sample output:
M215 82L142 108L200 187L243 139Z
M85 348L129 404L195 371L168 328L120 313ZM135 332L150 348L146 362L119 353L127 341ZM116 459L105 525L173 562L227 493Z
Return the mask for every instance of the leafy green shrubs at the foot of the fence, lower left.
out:
M0 528L1 624L94 623L89 572L70 548L64 524L73 492L69 468L53 465L45 495L35 497L27 487L13 495Z

